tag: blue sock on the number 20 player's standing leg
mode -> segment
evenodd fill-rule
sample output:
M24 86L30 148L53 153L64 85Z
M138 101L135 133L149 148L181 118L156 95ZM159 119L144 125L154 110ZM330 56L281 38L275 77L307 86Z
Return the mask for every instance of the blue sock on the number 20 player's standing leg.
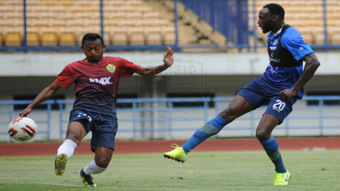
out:
M263 149L266 151L268 157L275 165L275 171L277 173L285 173L286 168L283 165L281 153L279 150L279 144L273 136L264 142L261 142Z

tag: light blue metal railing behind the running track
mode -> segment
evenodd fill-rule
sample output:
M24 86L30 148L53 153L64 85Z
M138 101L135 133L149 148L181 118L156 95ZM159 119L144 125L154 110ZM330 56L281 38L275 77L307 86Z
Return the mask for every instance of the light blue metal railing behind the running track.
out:
M188 121L197 121L200 123L205 123L209 120L209 114L211 114L211 109L214 109L214 115L217 115L221 110L225 109L226 106L221 106L224 102L231 102L234 98L200 98L197 101L197 98L168 98L168 99L119 99L117 103L129 103L132 104L132 107L129 108L118 108L117 112L120 114L121 112L129 112L128 117L119 118L119 123L121 122L131 122L132 125L129 128L121 128L119 132L128 132L132 133L132 138L137 138L137 133L140 132L167 132L168 136L171 137L175 132L182 131L194 131L193 127L181 127L181 122ZM296 113L291 113L288 117L285 118L282 125L276 127L277 130L284 130L285 136L291 135L291 131L293 130L318 130L318 135L324 135L325 130L337 129L340 130L340 125L336 125L336 120L340 118L338 110L340 109L340 105L325 105L325 101L340 101L340 96L305 96L302 101L298 101L295 106L293 106L294 111L298 111ZM197 107L173 107L173 104L176 102L200 102L200 106ZM308 105L307 101L317 101L318 105ZM33 113L47 113L46 120L36 121L38 124L47 124L47 131L38 131L39 134L47 134L48 138L51 138L51 108L52 104L59 104L59 138L64 138L64 133L66 132L66 128L64 127L67 124L68 118L64 118L63 114L69 113L71 109L65 109L64 104L73 104L74 100L49 100L42 104L47 105L47 109L42 110L33 110ZM214 102L215 108L209 108L209 102ZM0 106L8 106L9 109L0 110L0 116L8 115L8 120L0 121L0 125L8 124L13 118L21 110L14 110L14 105L28 105L31 101L0 101ZM161 107L144 107L143 104L157 104L163 103ZM300 104L303 103L303 104ZM260 111L260 114L264 112L267 106L262 106L259 109L250 112L250 114L239 117L236 121L249 121L249 126L237 126L232 127L228 125L223 128L222 131L228 130L245 130L248 131L248 136L255 136L255 129L257 128L257 122L261 120L262 115L256 114L256 112ZM331 112L331 114L325 114L325 111L329 112L337 109L337 112ZM201 113L196 113L195 116L187 117L184 120L178 120L178 117L173 116L174 111L183 110L183 111L200 111ZM263 112L261 112L263 110ZM308 114L309 110L314 110L313 113ZM161 118L150 117L146 112L160 113L165 112L166 115ZM299 114L297 114L299 113ZM141 115L143 114L143 115ZM197 116L199 115L199 116ZM213 116L214 116L213 115ZM212 116L212 115L210 115ZM3 119L4 117L1 117ZM312 125L305 125L305 123L297 123L292 120L318 120L318 123ZM332 123L325 123L326 120L334 120ZM140 128L138 123L141 122L155 122L162 123L164 127L162 128ZM232 123L233 124L233 123ZM332 124L332 125L329 125ZM198 128L198 127L197 127ZM1 131L0 134L7 134L7 131Z

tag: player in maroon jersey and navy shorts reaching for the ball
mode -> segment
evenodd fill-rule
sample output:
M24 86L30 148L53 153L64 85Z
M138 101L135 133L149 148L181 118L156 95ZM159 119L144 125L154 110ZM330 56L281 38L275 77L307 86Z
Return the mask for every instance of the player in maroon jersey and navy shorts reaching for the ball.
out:
M51 98L60 88L76 85L76 100L70 113L66 138L59 147L55 159L55 174L63 175L68 159L85 135L92 131L91 149L95 160L81 170L85 187L97 187L91 174L104 172L115 150L117 133L116 100L119 80L134 73L153 76L166 70L173 63L173 51L167 47L164 64L155 67L141 67L120 57L103 57L103 38L95 33L85 34L81 49L86 58L66 65L57 79L43 89L34 101L20 113L27 116L41 102Z

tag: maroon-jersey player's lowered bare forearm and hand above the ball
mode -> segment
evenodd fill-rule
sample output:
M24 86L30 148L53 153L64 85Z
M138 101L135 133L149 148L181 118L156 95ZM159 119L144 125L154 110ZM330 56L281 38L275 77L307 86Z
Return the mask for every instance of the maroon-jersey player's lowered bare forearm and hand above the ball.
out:
M46 87L45 89L43 89L43 90L38 94L38 96L33 100L33 102L32 102L30 105L28 105L28 106L26 107L26 109L24 109L23 111L21 111L19 115L20 115L21 117L27 116L29 113L32 112L32 109L33 109L36 105L38 105L38 104L40 104L40 103L42 103L42 102L48 100L49 98L51 98L51 97L53 96L53 94L54 94L59 88L60 88L60 86L56 85L55 83L52 83L51 85L49 85L48 87Z

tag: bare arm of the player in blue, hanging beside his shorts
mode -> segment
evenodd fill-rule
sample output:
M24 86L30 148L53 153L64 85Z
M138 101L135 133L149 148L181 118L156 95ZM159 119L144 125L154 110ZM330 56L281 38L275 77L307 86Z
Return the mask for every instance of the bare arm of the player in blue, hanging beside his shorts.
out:
M293 88L285 89L279 93L279 96L283 99L289 99L296 96L300 89L313 77L316 69L320 66L320 62L314 53L304 56L302 60L306 62L303 73Z

